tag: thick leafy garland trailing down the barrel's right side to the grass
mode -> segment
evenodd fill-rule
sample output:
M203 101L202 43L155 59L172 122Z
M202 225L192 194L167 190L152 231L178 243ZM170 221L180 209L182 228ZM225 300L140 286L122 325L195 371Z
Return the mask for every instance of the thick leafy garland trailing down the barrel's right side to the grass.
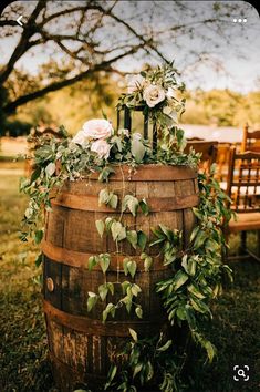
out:
M165 392L185 389L181 370L188 355L189 338L204 348L208 361L212 361L216 348L205 336L204 324L212 318L210 302L221 292L223 274L232 279L230 268L222 264L226 248L222 226L230 219L231 212L226 207L228 197L214 174L212 166L208 176L199 175L200 204L194 208L197 226L190 235L188 248L184 249L181 231L171 231L164 225L153 230L155 239L149 244L152 247L160 245L164 265L170 265L173 269L173 276L159 281L156 291L163 300L169 323L188 328L183 351L179 352L174 337L158 349L162 340L167 339L167 333L163 331L157 337L143 340L131 331L133 341L123 351L128 358L125 369L116 379L117 367L114 364L106 388L137 391L136 385L154 382ZM163 357L158 352L164 352Z

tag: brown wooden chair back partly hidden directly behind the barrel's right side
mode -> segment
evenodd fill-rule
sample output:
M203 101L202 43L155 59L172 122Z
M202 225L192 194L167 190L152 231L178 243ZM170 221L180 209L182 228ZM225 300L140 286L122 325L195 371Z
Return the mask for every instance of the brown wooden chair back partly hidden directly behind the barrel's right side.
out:
M212 163L216 162L218 142L206 142L206 141L188 141L185 147L185 152L188 153L190 147L196 151L196 153L201 153L199 168L202 171L208 171Z

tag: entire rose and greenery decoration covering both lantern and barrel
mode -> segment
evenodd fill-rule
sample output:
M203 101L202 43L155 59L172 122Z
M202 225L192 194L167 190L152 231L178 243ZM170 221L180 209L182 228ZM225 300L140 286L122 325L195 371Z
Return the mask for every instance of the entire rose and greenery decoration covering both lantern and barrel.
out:
M199 156L194 151L189 154L184 152L184 132L178 128L178 116L185 110L185 100L178 99L183 90L184 85L177 83L176 70L170 64L142 72L138 79L129 82L128 92L118 100L117 110L124 106L131 110L142 107L148 114L149 121L157 128L157 151L139 133L114 130L107 118L87 121L74 137L70 137L61 127L62 141L52 138L50 144L41 145L34 154L35 171L31 178L21 183L21 190L30 196L23 219L25 230L21 239L27 240L28 235L31 235L40 244L44 230L42 213L51 212L51 198L55 196L53 192L59 192L66 180L79 180L98 172L98 180L106 184L115 166L122 165L128 166L129 172L138 168L138 165L149 164L196 167ZM214 167L208 177L199 176L199 188L200 204L194 208L197 226L191 233L188 249L181 248L181 231L170 230L163 223L153 230L150 241L142 229L129 229L124 225L122 217L127 209L133 216L149 214L146 200L139 200L135 195L124 195L119 220L108 218L96 220L95 225L101 237L111 235L117 251L121 241L128 241L134 249L139 248L146 272L149 272L153 265L148 249L160 245L163 262L171 268L173 275L167 280L158 281L156 291L162 298L169 324L185 324L194 341L206 350L211 361L215 348L205 336L201 323L211 318L210 302L221 291L222 274L230 274L229 268L221 262L225 249L221 225L223 218L229 220L230 212L226 208L227 196L214 179ZM106 185L97 197L101 205L118 208L118 195ZM40 255L38 264L41 260ZM93 255L86 267L91 271L98 265L106 275L110 262L110 254ZM125 276L134 279L136 266L135 260L126 257L123 260ZM115 317L122 306L128 312L134 308L135 316L143 317L138 303L141 287L127 280L122 282L122 290L124 298L107 305L103 311L103 322L106 322L107 317ZM105 280L97 292L89 292L87 310L92 311L98 300L104 301L108 291L114 292L114 285ZM122 353L128 361L121 372L116 363L112 364L104 390L134 392L137 391L136 383L145 385L153 380L159 383L160 391L180 390L185 353L179 355L171 339L164 331L154 338L139 339L131 330L129 337L132 341Z

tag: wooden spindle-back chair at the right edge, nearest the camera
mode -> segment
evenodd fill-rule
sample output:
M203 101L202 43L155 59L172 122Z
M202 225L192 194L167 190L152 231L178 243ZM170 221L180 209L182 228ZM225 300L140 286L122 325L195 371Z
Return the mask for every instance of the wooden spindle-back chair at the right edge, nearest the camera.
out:
M237 153L236 147L231 147L227 194L237 219L232 218L226 228L226 239L231 233L241 233L240 255L229 259L252 257L260 261L260 153ZM247 249L249 230L258 234L256 255Z

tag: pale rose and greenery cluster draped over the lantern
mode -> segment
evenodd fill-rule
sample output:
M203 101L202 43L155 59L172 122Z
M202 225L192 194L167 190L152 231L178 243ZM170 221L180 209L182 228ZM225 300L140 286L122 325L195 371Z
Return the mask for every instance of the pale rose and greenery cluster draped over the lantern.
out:
M185 112L185 85L177 76L173 64L143 71L129 80L128 92L121 95L117 104L118 110L142 109L148 115L155 125L159 156L170 151L178 154L186 146L184 132L178 128L178 118Z

